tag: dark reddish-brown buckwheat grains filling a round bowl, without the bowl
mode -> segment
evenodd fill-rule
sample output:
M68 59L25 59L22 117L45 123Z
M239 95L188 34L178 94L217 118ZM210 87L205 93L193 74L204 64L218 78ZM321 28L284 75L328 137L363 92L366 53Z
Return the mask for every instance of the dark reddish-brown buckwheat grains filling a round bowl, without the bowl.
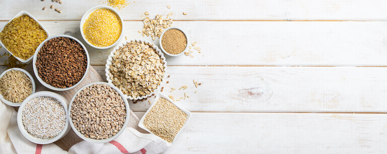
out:
M56 88L77 84L87 68L87 56L81 44L73 39L58 37L48 40L36 58L39 77Z

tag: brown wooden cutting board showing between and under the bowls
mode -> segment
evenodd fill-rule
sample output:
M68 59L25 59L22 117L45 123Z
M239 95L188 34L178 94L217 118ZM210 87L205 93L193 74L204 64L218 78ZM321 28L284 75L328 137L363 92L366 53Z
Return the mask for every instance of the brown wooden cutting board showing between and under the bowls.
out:
M55 93L58 93L59 95L62 95L64 98L66 98L69 103L70 103L71 99L73 98L74 94L79 89L81 89L83 86L90 84L90 83L94 83L94 82L105 82L102 79L102 77L97 73L97 71L95 71L95 69L92 66L90 66L89 72L87 73L86 78L77 87L75 87L71 90L68 90L68 91L57 92L57 91L49 90L48 88L44 87L42 84L39 83L39 81L36 79L36 77L34 75L34 71L32 68L32 62L30 64L28 64L25 67L25 69L34 77L35 84L36 84L36 91L35 92L39 92L39 91L55 92ZM131 102L131 101L129 101L129 102ZM130 110L130 115L128 117L130 118L130 121L129 121L127 127L133 127L142 133L147 133L145 130L138 127L140 119L135 115L135 113L132 110ZM63 150L68 151L71 146L73 146L74 144L76 144L80 141L82 141L82 139L80 137L78 137L78 135L73 131L73 129L71 129L66 136L57 140L54 143L56 145L58 145L60 148L62 148Z

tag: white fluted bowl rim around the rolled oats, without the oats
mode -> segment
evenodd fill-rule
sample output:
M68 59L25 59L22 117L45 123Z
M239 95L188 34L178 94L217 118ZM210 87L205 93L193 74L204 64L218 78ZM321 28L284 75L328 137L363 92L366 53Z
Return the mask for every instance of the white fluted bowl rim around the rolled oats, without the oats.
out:
M110 79L109 69L110 69L111 63L113 62L114 52L115 52L116 50L118 50L119 48L123 47L124 45L126 45L126 43L129 43L129 42L132 42L132 41L136 41L136 42L145 42L145 44L150 44L150 45L153 46L153 49L156 50L156 51L158 52L160 58L163 60L163 63L164 63L164 65L163 65L163 66L164 66L164 75L163 75L163 77L161 78L161 81L160 81L160 85L161 85L161 83L163 82L163 79L164 79L164 77L165 77L165 73L166 73L166 71L167 71L167 61L165 61L164 54L161 52L161 50L160 50L154 43L151 43L151 42L149 42L149 41L147 41L147 40L142 40L142 39L126 40L126 42L119 44L117 47L115 47L115 48L113 49L113 51L110 52L110 55L108 56L108 58L107 58L107 60L106 60L106 65L105 65L105 66L106 66L106 68L105 68L106 81L107 81L109 84L112 84L112 85L113 85L113 81ZM149 95L142 96L142 97L138 96L138 97L136 97L136 98L133 98L132 96L125 95L125 98L126 98L126 99L131 99L131 100L134 100L134 101L136 101L136 100L141 100L141 99L145 99L145 98L147 98L147 97L149 97L149 96L152 96L152 94L155 94L156 91L158 91L158 90L160 89L160 87L161 87L160 85L157 86L157 88L156 88L153 92L151 92Z

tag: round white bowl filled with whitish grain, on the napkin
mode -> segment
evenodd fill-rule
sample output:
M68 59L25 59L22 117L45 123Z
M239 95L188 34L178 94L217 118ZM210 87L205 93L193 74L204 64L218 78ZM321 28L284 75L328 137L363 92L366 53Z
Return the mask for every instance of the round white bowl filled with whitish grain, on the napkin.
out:
M70 131L68 102L63 96L40 91L19 107L17 122L23 136L36 144L49 144Z

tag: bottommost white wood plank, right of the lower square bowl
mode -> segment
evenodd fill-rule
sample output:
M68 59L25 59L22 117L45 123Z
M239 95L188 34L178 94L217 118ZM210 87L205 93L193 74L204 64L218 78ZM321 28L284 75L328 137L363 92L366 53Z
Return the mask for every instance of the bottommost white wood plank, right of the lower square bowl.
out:
M164 153L384 153L386 121L386 114L192 113Z

